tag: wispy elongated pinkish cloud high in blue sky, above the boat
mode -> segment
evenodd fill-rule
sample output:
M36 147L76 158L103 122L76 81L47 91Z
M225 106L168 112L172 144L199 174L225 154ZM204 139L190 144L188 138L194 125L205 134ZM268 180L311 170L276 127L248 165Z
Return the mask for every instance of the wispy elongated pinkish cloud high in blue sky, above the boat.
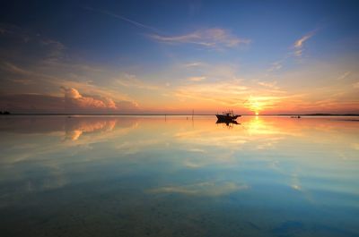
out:
M249 44L250 39L238 38L230 31L220 28L197 30L180 36L150 35L151 38L167 44L195 44L203 47L238 47Z

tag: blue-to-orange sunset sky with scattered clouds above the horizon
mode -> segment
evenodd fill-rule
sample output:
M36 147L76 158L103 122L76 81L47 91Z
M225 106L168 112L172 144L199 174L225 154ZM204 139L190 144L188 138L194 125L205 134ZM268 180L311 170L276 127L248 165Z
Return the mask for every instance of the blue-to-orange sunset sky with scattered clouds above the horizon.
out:
M0 110L359 114L358 1L4 1Z

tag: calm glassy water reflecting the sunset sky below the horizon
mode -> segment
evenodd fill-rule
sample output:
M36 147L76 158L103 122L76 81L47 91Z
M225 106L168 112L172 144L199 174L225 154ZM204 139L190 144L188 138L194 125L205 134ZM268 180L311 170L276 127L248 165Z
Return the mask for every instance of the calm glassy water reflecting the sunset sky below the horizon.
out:
M359 236L348 119L3 116L0 233Z

